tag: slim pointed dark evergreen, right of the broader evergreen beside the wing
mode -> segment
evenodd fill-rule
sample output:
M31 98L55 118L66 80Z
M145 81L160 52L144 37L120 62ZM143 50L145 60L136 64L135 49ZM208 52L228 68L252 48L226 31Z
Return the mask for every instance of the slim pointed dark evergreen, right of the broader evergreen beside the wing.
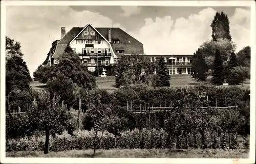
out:
M221 85L224 82L225 75L223 71L223 61L221 59L220 51L217 49L214 60L214 70L212 71L212 83L215 85Z

